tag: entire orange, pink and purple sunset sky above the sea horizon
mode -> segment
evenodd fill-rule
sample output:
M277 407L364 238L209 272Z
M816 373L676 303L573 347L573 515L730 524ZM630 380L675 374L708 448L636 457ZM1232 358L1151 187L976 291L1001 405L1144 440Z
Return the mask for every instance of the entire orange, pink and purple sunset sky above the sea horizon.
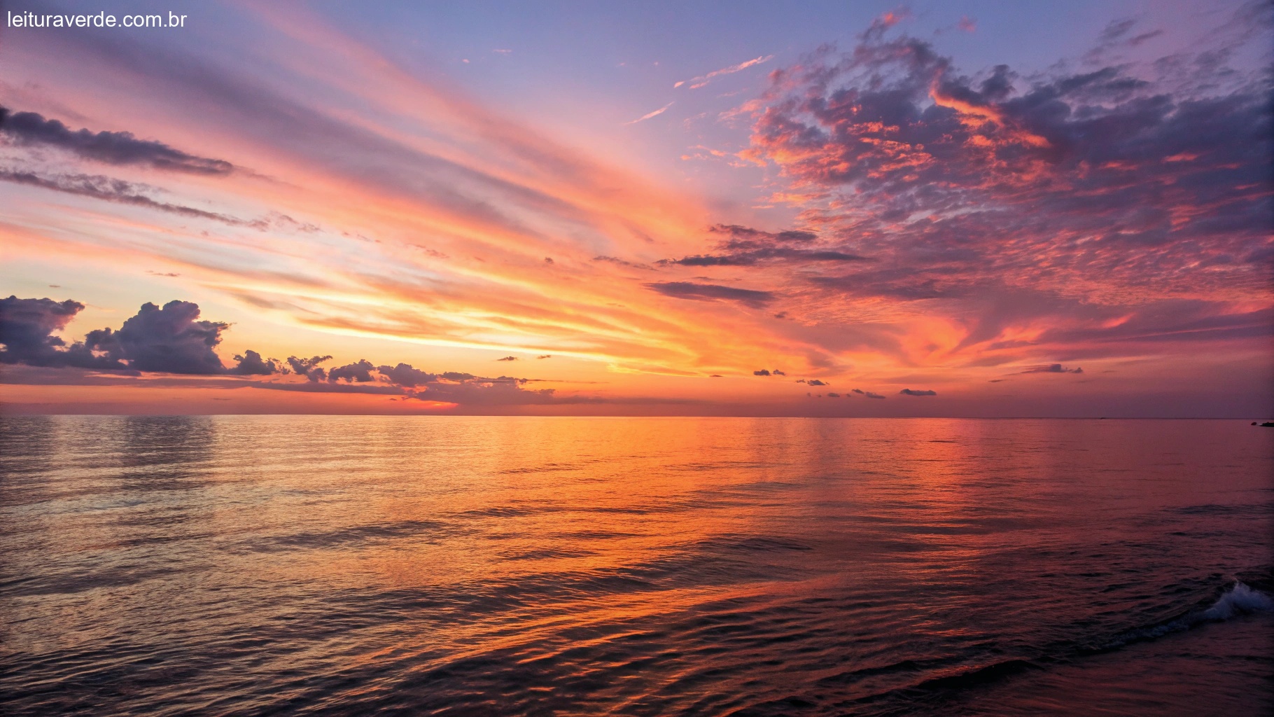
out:
M4 413L1274 405L1269 3L364 5L0 9Z

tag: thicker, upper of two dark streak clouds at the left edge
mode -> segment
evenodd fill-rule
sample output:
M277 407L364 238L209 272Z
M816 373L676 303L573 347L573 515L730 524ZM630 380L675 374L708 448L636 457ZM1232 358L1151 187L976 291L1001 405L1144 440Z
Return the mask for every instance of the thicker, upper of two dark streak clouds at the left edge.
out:
M167 144L139 140L132 132L71 130L34 112L0 107L0 135L22 145L54 146L83 159L115 166L140 166L186 174L229 174L234 166L223 159L196 157Z

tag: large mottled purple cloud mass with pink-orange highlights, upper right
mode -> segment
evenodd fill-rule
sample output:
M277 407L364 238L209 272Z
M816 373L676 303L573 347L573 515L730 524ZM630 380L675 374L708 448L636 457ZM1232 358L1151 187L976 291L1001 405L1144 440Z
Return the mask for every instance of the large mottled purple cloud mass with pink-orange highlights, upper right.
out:
M1250 14L1268 34L1270 13ZM1233 297L1268 299L1274 75L1227 66L1232 47L1154 67L964 74L887 29L773 73L758 103L743 154L812 197L800 218L818 236L720 227L721 252L680 262L759 266L750 252L814 242L870 257L789 253L768 270L840 297L930 302L913 311L971 327L961 349L1028 323L1054 345L1269 335L1271 317ZM1113 23L1097 55L1154 36Z

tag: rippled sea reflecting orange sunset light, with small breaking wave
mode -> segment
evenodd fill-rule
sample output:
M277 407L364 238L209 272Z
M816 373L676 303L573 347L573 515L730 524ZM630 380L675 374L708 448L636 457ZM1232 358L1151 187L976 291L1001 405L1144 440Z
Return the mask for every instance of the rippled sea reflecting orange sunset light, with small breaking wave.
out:
M1274 709L1274 430L0 419L0 713Z

